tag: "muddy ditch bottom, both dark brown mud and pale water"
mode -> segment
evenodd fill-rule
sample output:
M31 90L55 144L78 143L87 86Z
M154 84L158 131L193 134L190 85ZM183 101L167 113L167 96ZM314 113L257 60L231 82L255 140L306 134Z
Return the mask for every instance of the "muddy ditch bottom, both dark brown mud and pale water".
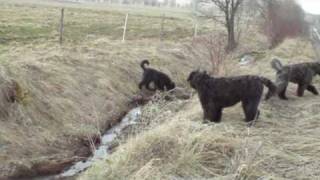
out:
M93 162L103 158L115 146L113 140L121 134L122 129L134 123L141 110L140 106L128 106L132 110L123 112L115 117L113 121L108 121L105 132L102 136L96 135L88 139L75 139L74 156L70 158L52 157L44 161L39 161L31 167L25 165L15 165L13 175L3 179L17 180L54 180L54 179L74 179L78 173L90 167ZM132 118L132 116L136 116ZM2 178L0 178L2 179Z

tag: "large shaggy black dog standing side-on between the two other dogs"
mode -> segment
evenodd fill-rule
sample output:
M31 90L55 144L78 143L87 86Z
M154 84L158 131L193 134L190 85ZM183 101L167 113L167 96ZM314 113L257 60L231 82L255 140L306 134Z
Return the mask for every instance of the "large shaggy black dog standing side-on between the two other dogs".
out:
M259 76L210 77L206 72L193 71L188 81L199 95L204 120L220 122L223 108L242 102L247 122L259 116L258 105L263 85L269 88L265 99L276 92L276 86L267 78Z

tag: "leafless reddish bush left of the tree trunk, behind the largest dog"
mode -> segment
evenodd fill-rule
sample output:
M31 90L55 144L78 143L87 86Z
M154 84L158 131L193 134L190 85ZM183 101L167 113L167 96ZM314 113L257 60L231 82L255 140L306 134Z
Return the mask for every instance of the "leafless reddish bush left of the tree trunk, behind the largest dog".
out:
M214 75L223 73L223 62L228 56L225 49L226 39L227 37L221 33L194 39L194 45L206 51L204 53L208 55L212 65L212 74Z

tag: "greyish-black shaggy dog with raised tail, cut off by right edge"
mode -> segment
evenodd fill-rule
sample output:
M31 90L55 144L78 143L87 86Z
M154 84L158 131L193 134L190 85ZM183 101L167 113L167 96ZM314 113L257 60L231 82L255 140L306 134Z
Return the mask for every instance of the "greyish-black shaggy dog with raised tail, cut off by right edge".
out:
M287 100L286 90L289 82L298 84L297 95L303 96L304 91L318 95L317 89L312 85L312 78L320 74L320 63L308 62L283 66L281 62L274 58L271 66L276 70L276 84L278 86L278 95L281 99Z

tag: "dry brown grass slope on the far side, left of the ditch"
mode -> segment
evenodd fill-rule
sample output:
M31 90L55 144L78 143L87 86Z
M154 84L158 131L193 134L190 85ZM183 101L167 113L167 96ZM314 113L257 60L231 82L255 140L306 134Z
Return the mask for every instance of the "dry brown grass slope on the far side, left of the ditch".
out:
M138 92L141 59L150 59L152 67L185 86L192 62L197 61L184 51L172 43L122 44L108 39L77 48L52 44L12 48L2 63L3 76L15 79L27 98L0 121L1 166L13 167L21 160L32 164L39 155L73 156L77 141L71 140L99 134L128 109Z

